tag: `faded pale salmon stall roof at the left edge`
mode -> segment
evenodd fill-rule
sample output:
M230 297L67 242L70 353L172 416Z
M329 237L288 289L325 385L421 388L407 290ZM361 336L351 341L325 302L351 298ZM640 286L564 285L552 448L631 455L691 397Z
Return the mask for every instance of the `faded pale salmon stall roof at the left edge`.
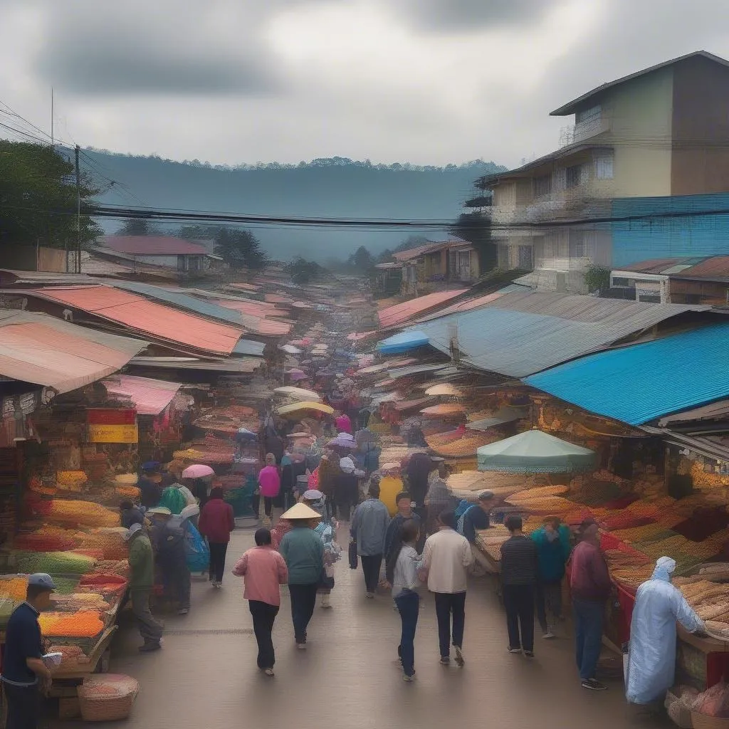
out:
M147 346L47 314L0 309L0 375L59 393L115 373Z

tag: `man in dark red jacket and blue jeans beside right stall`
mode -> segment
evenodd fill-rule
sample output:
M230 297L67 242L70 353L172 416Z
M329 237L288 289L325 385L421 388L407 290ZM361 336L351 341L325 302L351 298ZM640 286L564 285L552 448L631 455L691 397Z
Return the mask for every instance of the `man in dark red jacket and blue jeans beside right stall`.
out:
M582 541L572 551L569 587L574 610L577 668L582 688L604 691L595 678L602 647L605 603L612 592L607 562L600 550L599 527L593 520L582 522Z

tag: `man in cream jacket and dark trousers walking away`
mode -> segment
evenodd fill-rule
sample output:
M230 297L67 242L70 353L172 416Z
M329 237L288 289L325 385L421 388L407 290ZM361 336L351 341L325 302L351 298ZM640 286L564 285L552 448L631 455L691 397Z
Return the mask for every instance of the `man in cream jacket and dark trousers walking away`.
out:
M451 615L456 663L463 666L463 631L466 623L466 588L473 554L468 539L456 531L456 515L445 511L438 517L438 531L425 542L423 578L435 595L440 663L451 663Z

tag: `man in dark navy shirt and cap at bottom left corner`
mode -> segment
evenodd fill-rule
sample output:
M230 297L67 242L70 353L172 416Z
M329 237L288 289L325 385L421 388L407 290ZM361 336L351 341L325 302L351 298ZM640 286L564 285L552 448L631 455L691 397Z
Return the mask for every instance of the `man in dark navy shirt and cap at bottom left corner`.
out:
M39 692L50 689L51 673L43 662L38 616L50 607L53 590L50 574L31 574L26 601L15 608L7 623L2 665L7 729L35 729L41 704Z

